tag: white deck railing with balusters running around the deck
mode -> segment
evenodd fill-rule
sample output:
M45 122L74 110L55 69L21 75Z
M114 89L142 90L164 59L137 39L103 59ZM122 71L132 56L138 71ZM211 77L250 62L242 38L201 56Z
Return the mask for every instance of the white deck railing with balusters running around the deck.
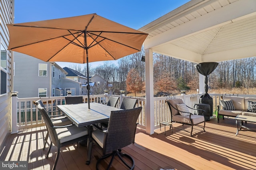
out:
M181 98L184 103L189 107L193 107L194 104L199 103L200 96L202 94L191 94L191 95L181 95L181 96L167 96L167 97L156 97L154 98L154 127L155 129L159 128L161 121L170 121L170 109L165 102L168 99ZM106 104L108 102L108 94L102 95L93 95L90 96L90 102L97 102ZM256 97L256 95L237 95L237 94L210 94L213 98L213 114L217 109L217 106L220 104L220 99L222 96L241 96L241 97ZM138 104L136 107L142 106L142 112L138 118L138 127L146 129L146 111L145 104L146 98L137 98L137 97L127 97L127 96L118 96L120 100L116 107L120 107L120 101L122 98L136 98L138 99ZM28 129L31 127L43 126L44 121L36 105L33 101L42 100L45 104L47 110L56 110L57 105L65 104L65 96L60 97L45 97L45 98L17 98L17 111L13 110L13 116L17 116L17 125L18 130ZM87 96L83 96L84 102L87 102Z

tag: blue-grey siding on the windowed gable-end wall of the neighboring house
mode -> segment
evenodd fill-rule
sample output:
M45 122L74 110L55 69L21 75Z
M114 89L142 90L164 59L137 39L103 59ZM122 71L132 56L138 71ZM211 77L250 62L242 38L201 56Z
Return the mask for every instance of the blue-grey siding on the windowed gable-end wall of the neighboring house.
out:
M18 98L38 97L38 88L47 88L50 96L50 63L18 52L14 52L14 62L14 91ZM47 64L47 76L38 76L38 63Z

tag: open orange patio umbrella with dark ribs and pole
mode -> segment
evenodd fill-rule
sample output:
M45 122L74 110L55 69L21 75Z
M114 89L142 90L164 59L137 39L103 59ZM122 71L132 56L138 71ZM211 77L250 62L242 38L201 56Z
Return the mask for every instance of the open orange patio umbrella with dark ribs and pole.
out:
M10 33L8 50L46 62L87 63L89 108L88 63L139 52L148 35L97 14L6 25Z

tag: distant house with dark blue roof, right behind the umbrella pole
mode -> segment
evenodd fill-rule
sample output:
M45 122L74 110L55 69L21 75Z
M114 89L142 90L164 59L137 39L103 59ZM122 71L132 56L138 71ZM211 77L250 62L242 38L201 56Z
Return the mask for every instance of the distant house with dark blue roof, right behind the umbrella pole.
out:
M68 72L68 74L66 75L66 78L82 83L80 86L80 95L87 95L88 94L88 91L86 88L87 77L84 74L76 70L73 70L72 68L64 67L63 69L66 70L66 72ZM90 84L90 86L92 86L92 84ZM93 94L93 89L91 89L90 94Z

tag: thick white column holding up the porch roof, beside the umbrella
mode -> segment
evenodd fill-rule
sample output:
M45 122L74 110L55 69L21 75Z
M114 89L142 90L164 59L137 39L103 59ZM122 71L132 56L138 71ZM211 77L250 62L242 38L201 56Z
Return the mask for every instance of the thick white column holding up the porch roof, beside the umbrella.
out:
M153 84L153 51L145 50L146 71L146 133L154 133L154 84Z

